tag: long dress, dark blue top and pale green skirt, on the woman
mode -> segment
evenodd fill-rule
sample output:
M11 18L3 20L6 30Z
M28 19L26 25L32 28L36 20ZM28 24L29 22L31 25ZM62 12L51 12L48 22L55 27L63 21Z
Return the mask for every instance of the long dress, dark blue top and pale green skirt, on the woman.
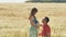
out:
M38 22L37 22L36 17L34 17L33 22L37 26ZM37 28L36 27L31 26L31 28L30 28L30 37L37 37Z

